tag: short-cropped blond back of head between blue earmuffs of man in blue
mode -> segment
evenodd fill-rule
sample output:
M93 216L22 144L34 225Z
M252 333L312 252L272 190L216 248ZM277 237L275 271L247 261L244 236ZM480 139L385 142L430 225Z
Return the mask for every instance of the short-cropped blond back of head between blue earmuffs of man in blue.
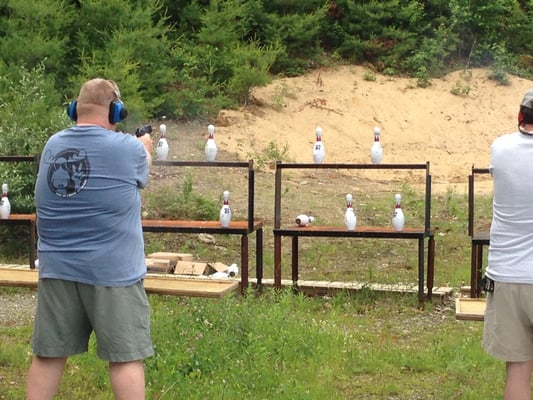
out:
M109 110L109 105L115 100L120 100L120 91L114 81L95 78L85 82L77 98L78 116L102 113L102 107Z

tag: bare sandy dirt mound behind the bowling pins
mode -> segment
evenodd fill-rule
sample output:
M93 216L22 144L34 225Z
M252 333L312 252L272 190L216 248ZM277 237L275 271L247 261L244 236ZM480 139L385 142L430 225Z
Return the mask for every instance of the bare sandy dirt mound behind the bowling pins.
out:
M522 95L533 87L517 77L502 86L488 74L458 71L426 88L355 66L279 79L255 89L248 106L221 111L216 139L219 148L243 159L275 144L285 161L312 162L320 126L324 162L369 163L377 126L382 163L430 161L435 185L461 185L473 164L488 166L491 142L516 129Z

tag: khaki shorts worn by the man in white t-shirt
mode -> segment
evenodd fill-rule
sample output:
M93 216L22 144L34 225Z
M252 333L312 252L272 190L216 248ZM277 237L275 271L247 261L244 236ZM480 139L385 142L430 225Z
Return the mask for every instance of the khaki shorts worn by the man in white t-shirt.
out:
M484 320L488 354L510 362L533 360L533 285L494 282Z

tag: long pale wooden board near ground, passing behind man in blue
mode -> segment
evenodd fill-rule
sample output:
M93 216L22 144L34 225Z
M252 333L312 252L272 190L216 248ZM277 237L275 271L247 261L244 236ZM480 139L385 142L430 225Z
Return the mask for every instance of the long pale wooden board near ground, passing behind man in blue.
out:
M35 269L0 268L0 286L36 288L38 279L39 272ZM144 287L148 293L154 294L220 298L235 291L239 282L148 275L144 280Z

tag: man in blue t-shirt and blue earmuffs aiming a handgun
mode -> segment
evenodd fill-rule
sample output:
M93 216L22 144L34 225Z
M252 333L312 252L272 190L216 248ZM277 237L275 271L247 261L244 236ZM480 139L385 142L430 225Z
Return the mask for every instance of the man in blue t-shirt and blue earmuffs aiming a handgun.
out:
M127 115L115 82L92 79L68 108L76 121L46 143L35 185L39 288L27 399L52 399L69 356L109 362L115 398L144 399L153 355L139 189L149 135L118 133Z

